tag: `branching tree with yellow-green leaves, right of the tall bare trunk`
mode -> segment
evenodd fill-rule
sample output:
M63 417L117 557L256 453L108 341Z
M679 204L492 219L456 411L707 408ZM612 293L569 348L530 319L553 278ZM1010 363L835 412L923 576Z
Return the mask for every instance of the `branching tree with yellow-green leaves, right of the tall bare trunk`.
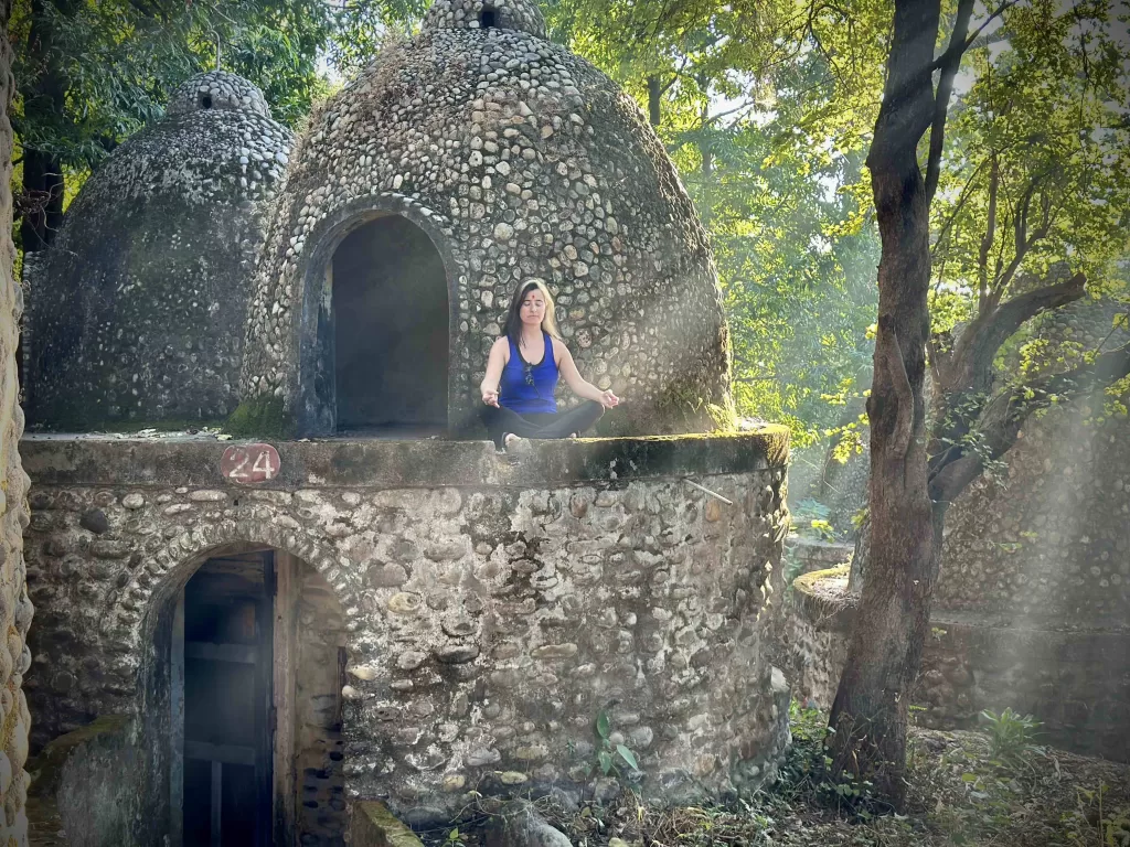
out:
M998 366L1041 313L1124 290L1115 263L1130 247L1130 94L1106 17L1104 3L1064 14L1036 0L1005 16L999 59L990 47L972 56L976 82L955 112L942 181L950 197L935 216L929 481L941 507L1033 413L1130 365L1128 348L1101 344L1060 350L1062 363L1038 375Z

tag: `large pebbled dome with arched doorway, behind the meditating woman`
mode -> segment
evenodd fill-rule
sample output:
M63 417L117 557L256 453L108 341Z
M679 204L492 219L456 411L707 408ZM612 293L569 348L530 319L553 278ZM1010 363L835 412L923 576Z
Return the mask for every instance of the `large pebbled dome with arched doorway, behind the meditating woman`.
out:
M704 429L728 402L707 238L640 108L546 41L529 0L437 0L296 147L249 313L245 420L458 428L533 278L582 375L624 399L606 431Z

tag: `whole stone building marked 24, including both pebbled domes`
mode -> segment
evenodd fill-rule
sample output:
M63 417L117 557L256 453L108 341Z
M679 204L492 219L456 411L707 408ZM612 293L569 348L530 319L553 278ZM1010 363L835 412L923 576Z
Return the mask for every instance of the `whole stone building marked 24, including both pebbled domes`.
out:
M532 2L437 0L293 148L244 80L194 78L70 216L89 269L31 269L55 294L21 451L26 688L72 845L340 845L371 801L427 823L472 789L607 791L599 715L650 795L773 775L788 433L704 434L705 234ZM530 278L625 437L512 464L463 427ZM271 443L96 434L233 410Z

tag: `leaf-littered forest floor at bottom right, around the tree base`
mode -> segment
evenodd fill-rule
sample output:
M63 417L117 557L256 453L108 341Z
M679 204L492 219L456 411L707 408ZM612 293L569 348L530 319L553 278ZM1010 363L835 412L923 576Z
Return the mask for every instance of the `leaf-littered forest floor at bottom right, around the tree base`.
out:
M1128 847L1130 766L1040 746L1016 726L911 731L909 803L895 814L867 785L823 775L824 716L794 715L781 778L725 807L651 806L632 791L605 805L537 801L574 847ZM1010 732L1011 730L1011 732ZM484 801L488 804L488 801ZM489 805L421 833L479 847Z

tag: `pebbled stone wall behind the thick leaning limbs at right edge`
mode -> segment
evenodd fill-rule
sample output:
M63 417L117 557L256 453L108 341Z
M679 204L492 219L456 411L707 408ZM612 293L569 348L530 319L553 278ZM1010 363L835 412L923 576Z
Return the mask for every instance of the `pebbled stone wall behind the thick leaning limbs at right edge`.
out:
M1125 626L1130 421L1104 416L1109 401L1097 394L1029 421L1008 453L1003 484L980 480L958 498L938 608Z

